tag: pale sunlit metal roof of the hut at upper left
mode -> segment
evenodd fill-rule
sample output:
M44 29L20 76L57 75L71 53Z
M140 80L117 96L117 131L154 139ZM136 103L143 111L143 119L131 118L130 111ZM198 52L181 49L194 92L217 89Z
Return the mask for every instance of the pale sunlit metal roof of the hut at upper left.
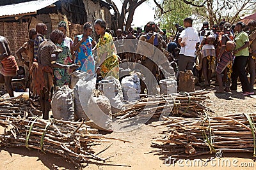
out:
M46 6L49 6L50 4L56 3L57 1L59 0L37 0L26 3L0 6L0 17L33 13L37 10L45 8Z

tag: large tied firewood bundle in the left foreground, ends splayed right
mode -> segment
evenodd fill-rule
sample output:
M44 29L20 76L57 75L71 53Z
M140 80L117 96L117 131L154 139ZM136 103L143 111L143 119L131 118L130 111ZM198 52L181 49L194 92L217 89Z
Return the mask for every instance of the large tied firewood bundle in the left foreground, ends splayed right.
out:
M97 134L97 129L86 125L89 122L43 120L37 117L9 119L12 120L0 120L0 125L6 128L4 134L0 134L0 146L34 148L54 153L70 159L78 167L83 162L104 162L106 159L98 157L91 147L114 139Z

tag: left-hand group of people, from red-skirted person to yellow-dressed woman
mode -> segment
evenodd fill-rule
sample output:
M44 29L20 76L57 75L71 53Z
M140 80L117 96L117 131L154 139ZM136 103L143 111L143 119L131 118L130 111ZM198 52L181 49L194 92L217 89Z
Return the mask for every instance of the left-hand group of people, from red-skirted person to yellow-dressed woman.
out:
M93 26L100 36L98 43L91 36ZM73 41L66 36L67 23L61 21L58 29L52 31L50 38L46 39L47 25L38 23L35 29L29 30L29 40L16 52L18 59L28 66L29 97L39 96L44 119L49 118L54 87L70 85L74 70L92 75L97 72L102 78L111 72L111 75L118 78L119 59L113 53L115 45L111 34L106 32L106 22L97 20L94 25L87 22L83 25L83 30L83 34L77 35ZM0 42L1 81L5 83L9 96L13 97L12 77L17 75L19 67L15 57L11 55L8 39L1 36ZM107 49L105 44L111 44L110 48ZM97 62L100 63L97 68L93 56L96 49L99 49ZM28 56L28 60L24 59L23 53Z

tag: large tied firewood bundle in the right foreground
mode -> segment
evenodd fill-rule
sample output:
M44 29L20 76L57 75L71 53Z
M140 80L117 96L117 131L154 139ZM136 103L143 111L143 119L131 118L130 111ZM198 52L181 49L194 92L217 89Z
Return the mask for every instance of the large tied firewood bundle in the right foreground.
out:
M221 152L253 152L256 156L256 113L166 120L168 129L151 145L161 148L163 157L179 159Z

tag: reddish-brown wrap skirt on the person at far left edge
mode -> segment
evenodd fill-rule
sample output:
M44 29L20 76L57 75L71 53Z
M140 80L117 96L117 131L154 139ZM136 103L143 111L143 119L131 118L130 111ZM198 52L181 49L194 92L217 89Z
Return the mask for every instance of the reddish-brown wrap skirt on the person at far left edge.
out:
M1 67L0 74L3 74L3 76L10 76L10 77L17 75L17 71L19 70L19 67L13 55L5 57L3 60L1 60L1 64L2 64L2 67Z

